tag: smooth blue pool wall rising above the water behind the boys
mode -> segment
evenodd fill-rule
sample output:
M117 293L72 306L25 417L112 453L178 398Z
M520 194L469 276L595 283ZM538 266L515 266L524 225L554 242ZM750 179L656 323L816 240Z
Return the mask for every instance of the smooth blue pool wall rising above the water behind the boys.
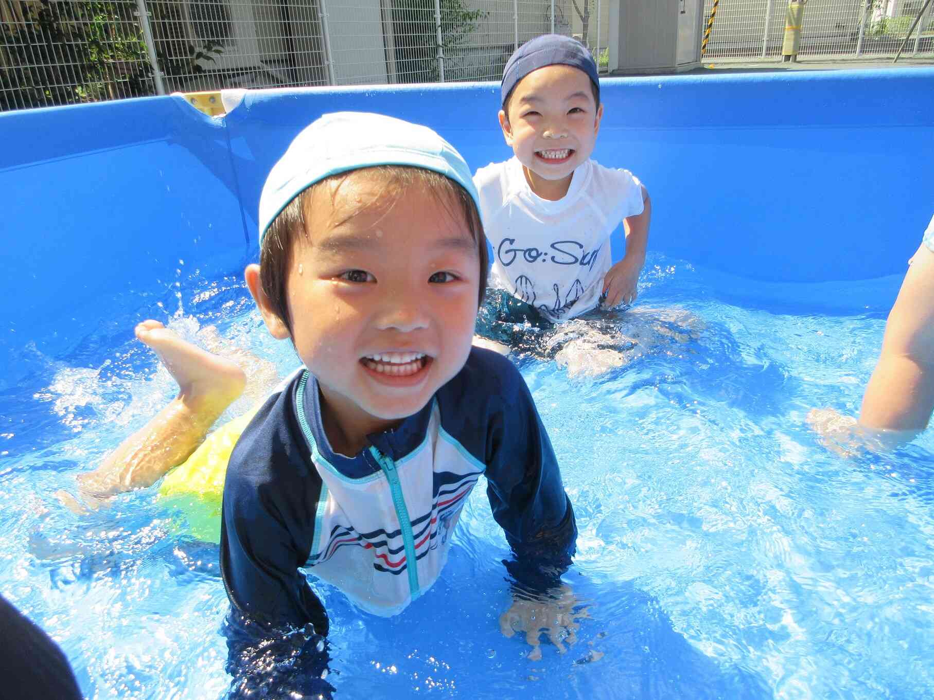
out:
M650 250L764 282L863 280L901 273L934 213L934 68L601 87L594 158L644 181ZM475 169L511 155L498 103L474 83L253 91L225 118L180 96L0 114L0 362L64 357L125 324L128 297L238 274L266 173L319 115L427 124Z

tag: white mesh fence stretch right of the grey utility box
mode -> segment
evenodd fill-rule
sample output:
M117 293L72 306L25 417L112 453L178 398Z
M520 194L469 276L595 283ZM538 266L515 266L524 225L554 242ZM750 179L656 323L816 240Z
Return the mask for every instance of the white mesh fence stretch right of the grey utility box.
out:
M779 57L787 0L721 0L705 59ZM807 0L800 56L885 55L905 39L924 0ZM704 23L714 0L704 0ZM905 55L934 54L934 3L918 22Z

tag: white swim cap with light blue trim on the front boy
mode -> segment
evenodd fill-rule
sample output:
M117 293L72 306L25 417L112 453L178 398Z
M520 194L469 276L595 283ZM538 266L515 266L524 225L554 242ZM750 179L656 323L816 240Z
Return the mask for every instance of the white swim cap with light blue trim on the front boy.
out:
M480 209L466 161L427 126L368 112L334 112L306 126L266 178L260 196L260 244L279 212L304 189L325 177L375 165L411 165L446 175Z

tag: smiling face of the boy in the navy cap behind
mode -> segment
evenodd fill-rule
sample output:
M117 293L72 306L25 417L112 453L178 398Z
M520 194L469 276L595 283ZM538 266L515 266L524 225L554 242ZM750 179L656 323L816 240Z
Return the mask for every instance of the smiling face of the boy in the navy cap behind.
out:
M518 82L507 107L508 114L500 111L502 133L529 187L544 199L560 199L600 131L603 107L594 101L590 78L570 65L546 65Z

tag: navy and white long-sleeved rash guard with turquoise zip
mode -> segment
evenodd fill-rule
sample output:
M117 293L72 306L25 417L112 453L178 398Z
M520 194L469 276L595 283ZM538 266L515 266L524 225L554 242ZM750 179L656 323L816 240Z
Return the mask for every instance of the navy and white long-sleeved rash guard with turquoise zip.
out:
M303 369L233 449L220 530L233 697L330 696L320 679L327 614L300 567L362 609L399 612L436 581L481 474L517 590L545 593L570 566L571 502L529 388L505 357L474 348L421 411L368 438L354 457L332 451L318 383Z

